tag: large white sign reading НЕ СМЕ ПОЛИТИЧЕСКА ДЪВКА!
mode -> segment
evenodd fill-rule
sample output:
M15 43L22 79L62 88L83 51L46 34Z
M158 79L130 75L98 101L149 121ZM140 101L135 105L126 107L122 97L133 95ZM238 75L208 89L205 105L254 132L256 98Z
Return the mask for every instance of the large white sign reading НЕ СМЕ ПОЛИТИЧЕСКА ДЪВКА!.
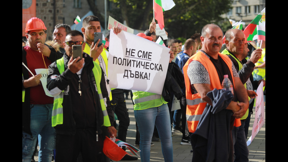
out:
M170 49L128 32L110 32L110 88L162 94Z

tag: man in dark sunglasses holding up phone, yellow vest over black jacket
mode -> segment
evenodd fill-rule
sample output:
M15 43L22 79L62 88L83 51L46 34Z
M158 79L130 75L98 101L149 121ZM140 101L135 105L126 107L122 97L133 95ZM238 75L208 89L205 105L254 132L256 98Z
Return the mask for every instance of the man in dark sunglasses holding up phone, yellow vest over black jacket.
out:
M103 71L86 53L72 57L72 46L85 47L83 34L67 34L63 58L49 66L47 89L54 96L52 126L56 129L57 161L76 161L81 152L83 161L101 161L103 138L101 126L110 137L116 136L114 113Z

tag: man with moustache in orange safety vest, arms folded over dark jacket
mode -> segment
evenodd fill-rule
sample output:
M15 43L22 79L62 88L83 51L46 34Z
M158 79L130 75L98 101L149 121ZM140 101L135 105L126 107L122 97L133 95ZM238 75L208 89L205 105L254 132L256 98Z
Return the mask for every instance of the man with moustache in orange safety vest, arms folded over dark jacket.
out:
M219 53L222 38L219 26L205 25L200 38L202 49L183 67L192 161L233 161L232 128L240 126L240 120L235 118L243 116L249 106L247 91L235 66ZM234 95L220 90L224 75L228 75Z

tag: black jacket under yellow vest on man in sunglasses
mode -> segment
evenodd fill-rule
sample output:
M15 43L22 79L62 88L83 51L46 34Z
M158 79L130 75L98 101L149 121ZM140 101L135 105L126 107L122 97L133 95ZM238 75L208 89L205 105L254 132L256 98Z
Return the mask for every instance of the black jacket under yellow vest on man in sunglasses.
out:
M94 78L94 74L92 72L92 69L94 67L93 59L86 53L83 54L83 57L85 58L85 60L84 60L85 61L84 66L85 67L83 67L83 70L88 71L88 79L89 79L90 86L91 86L92 93L93 93L91 95L93 95L94 103L96 104L95 105L95 110L96 110L96 116L95 117L97 120L96 121L97 122L97 131L99 134L101 134L102 133L101 126L103 125L104 119L103 119L103 112L101 109L101 104L100 104L98 92L96 90L96 86L94 85L95 84L95 78ZM51 64L49 66L49 74L47 77L47 89L48 89L48 91L51 91L54 88L59 88L61 91L66 90L66 88L68 87L68 85L70 85L70 83L72 81L72 77L75 76L75 74L73 74L68 69L68 61L69 61L70 57L68 57L67 54L64 54L63 58L64 58L65 71L62 74L59 73L56 62L54 62L53 64ZM56 79L55 79L55 77L56 77ZM110 108L110 104L109 104L110 100L109 100L108 92L106 89L103 70L102 70L100 88L102 91L103 98L107 99L106 109L107 109L107 113L108 113L108 116L110 119L111 126L113 126L114 112ZM74 118L73 118L71 93L69 90L68 90L68 92L64 92L62 105L63 105L63 124L58 124L54 128L56 129L57 134L74 135L76 133L76 123L75 123Z

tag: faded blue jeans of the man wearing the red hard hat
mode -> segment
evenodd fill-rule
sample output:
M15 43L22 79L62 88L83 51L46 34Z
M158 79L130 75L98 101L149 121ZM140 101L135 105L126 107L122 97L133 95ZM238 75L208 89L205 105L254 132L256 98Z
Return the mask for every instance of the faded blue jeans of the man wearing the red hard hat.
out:
M31 104L30 108L30 130L32 136L22 132L22 160L24 162L31 161L38 138L40 146L38 153L39 162L51 162L56 138L56 131L51 123L53 104Z

